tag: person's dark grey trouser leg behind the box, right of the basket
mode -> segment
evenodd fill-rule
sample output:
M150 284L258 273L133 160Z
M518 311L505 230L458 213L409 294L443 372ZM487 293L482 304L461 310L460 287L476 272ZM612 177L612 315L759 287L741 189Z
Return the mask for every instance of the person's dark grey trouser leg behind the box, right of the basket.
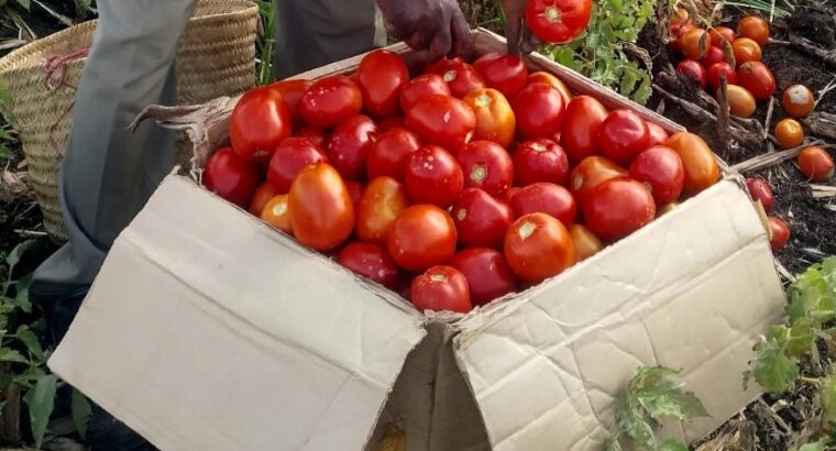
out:
M276 76L315 67L386 45L374 0L276 0Z

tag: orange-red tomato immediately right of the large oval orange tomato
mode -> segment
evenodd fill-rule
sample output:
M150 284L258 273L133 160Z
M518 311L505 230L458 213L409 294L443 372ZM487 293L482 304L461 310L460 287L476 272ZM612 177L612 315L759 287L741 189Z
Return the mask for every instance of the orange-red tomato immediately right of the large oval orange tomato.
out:
M409 206L406 187L392 177L369 183L356 208L354 231L361 241L385 244L395 218Z

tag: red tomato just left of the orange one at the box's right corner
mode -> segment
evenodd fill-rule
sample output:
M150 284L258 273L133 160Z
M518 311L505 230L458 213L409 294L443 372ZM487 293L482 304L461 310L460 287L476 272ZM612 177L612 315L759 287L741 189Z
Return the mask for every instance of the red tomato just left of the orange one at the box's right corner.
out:
M656 205L663 206L682 195L685 168L676 152L663 145L654 145L632 161L630 178L644 183Z

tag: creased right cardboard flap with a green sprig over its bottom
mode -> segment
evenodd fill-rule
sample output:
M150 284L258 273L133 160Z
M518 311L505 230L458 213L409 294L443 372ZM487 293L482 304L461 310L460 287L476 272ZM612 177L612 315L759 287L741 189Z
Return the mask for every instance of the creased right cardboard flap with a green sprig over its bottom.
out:
M693 440L757 396L741 374L783 302L763 226L726 180L463 319L454 345L495 450L601 449L616 396L644 364L682 370L705 404L712 418L666 431Z

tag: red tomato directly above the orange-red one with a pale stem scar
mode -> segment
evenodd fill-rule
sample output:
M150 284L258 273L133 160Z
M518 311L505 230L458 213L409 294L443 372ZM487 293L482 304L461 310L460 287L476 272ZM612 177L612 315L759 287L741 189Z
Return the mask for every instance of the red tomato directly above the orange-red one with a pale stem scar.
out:
M578 205L566 188L548 182L538 182L520 188L510 198L510 208L517 218L540 212L560 220L569 227L575 221Z

